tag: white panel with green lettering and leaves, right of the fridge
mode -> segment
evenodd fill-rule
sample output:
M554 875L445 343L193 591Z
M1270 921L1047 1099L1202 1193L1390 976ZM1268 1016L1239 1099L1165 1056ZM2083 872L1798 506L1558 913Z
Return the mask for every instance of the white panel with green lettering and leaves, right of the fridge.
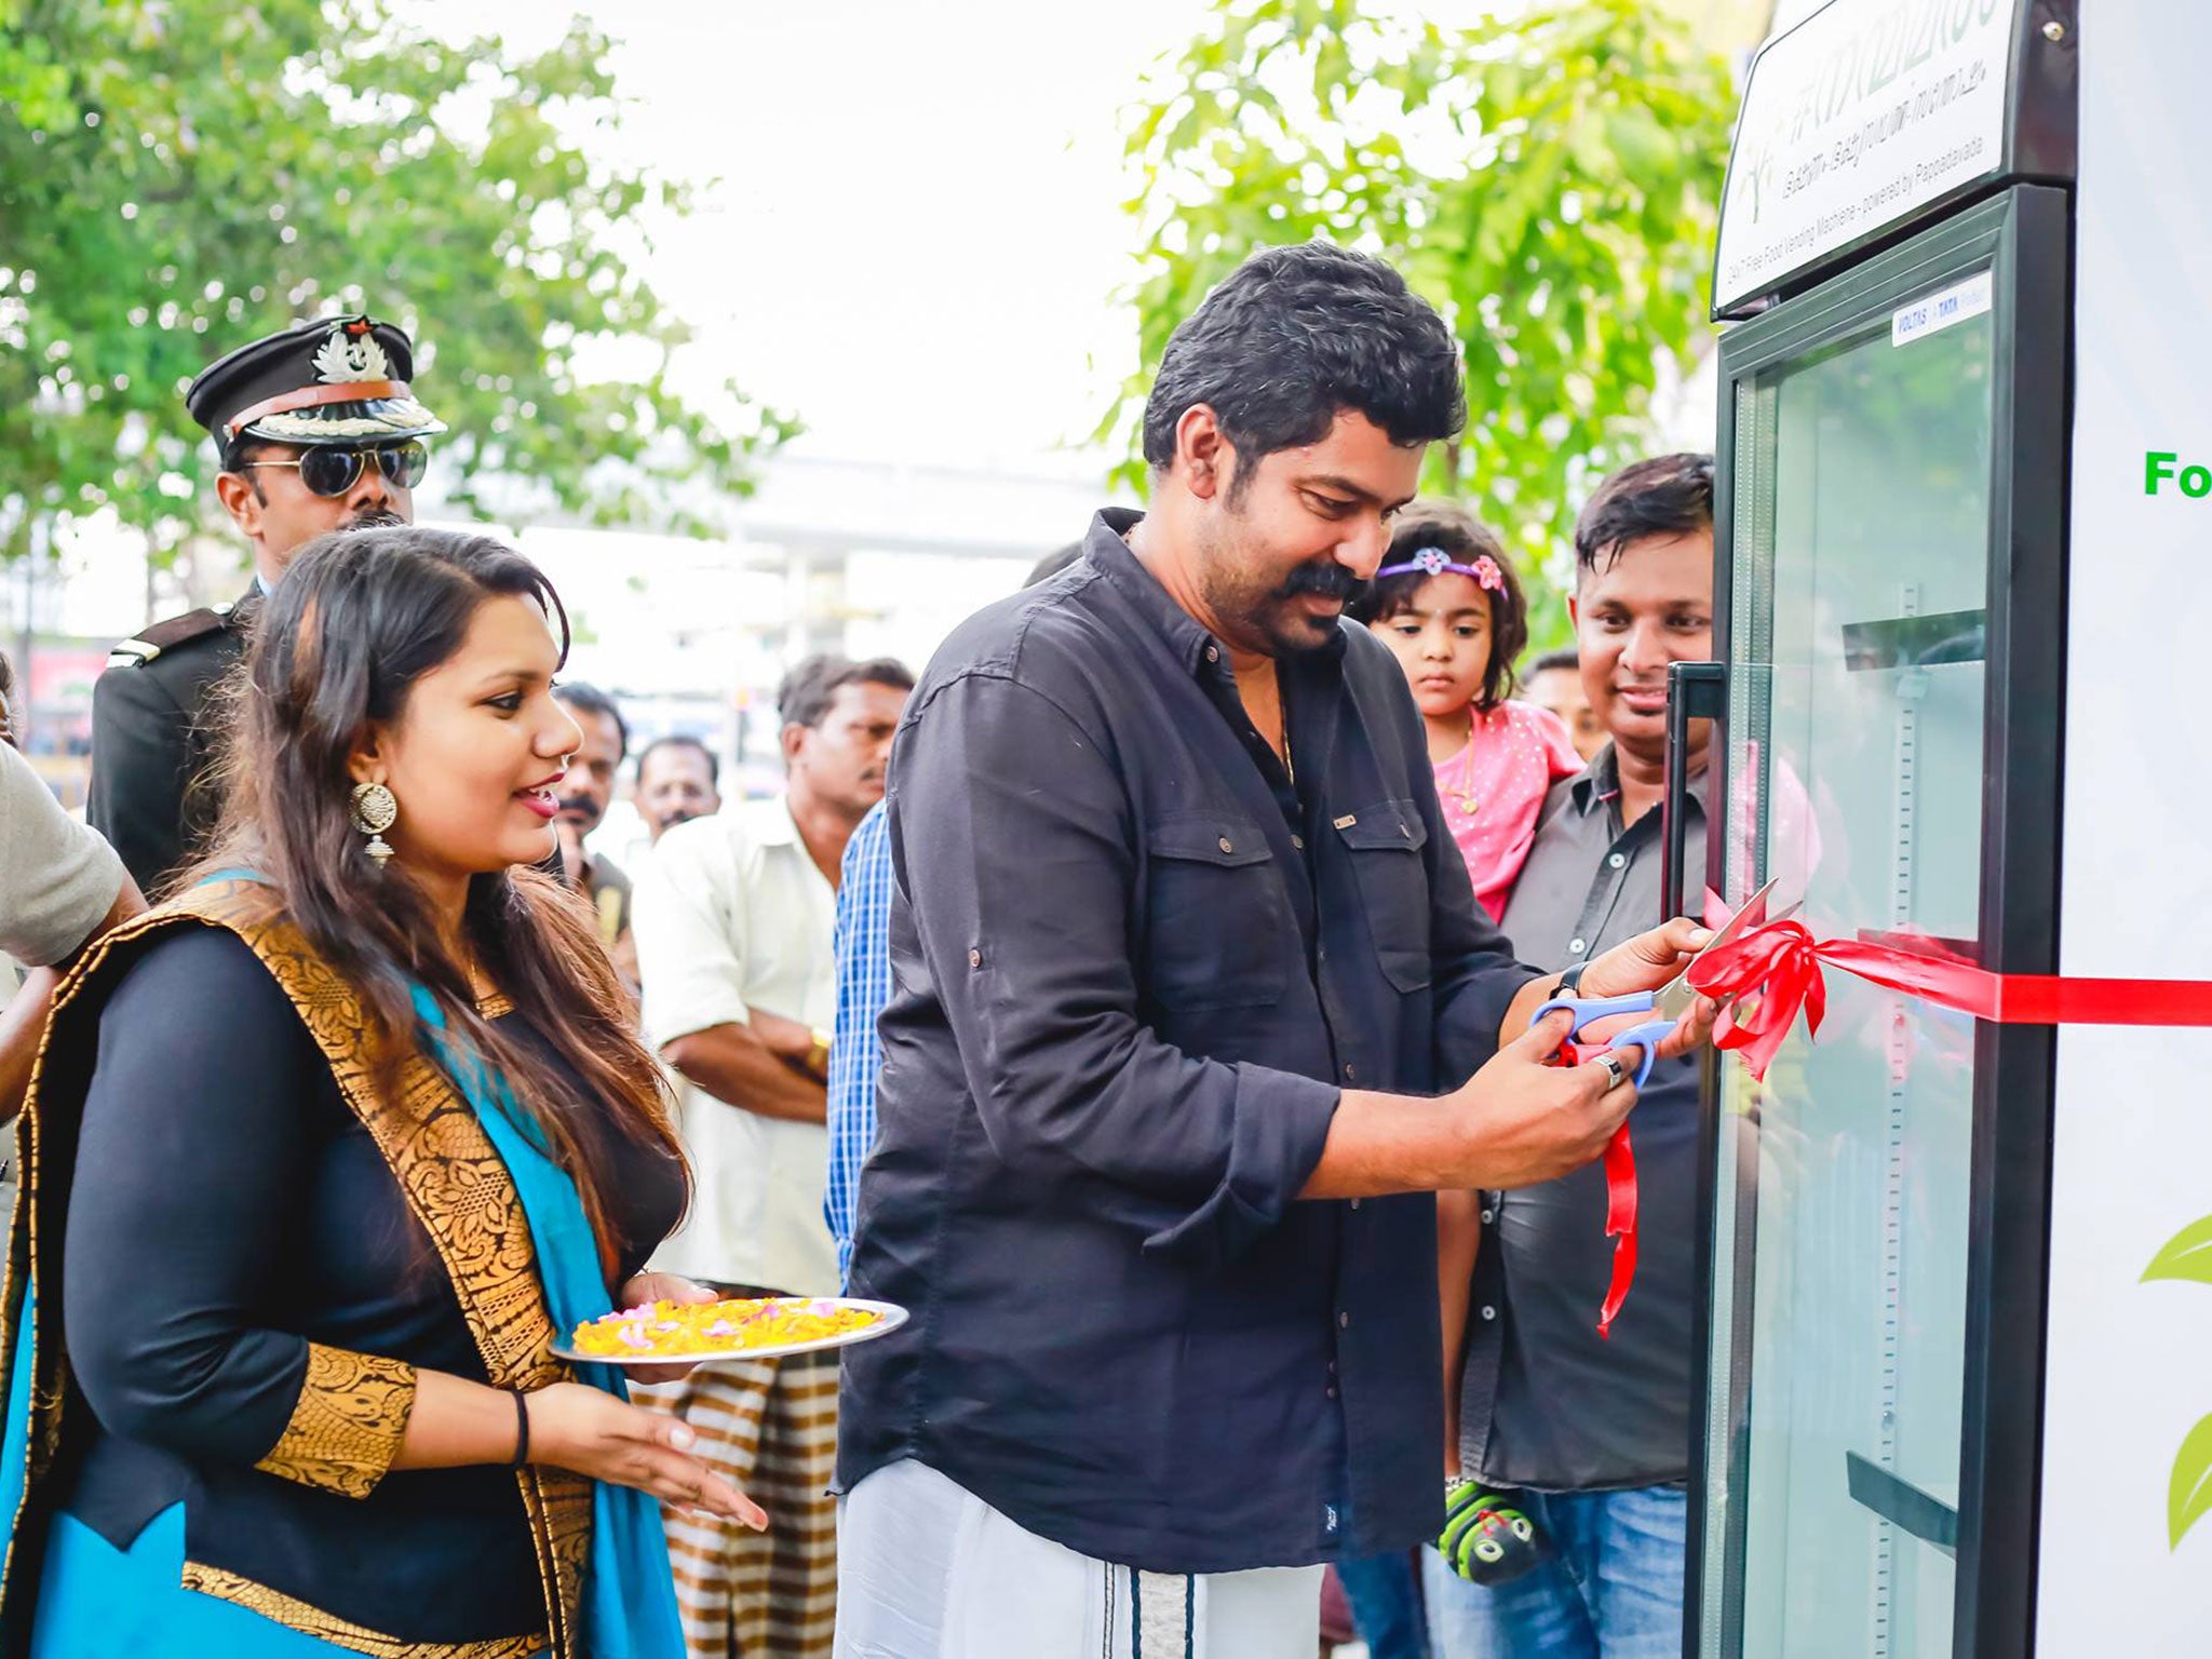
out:
M2212 980L2212 7L2081 11L2059 967ZM2046 1659L2212 1650L2212 1265L2143 1276L2203 1219L2212 1031L2062 1031Z

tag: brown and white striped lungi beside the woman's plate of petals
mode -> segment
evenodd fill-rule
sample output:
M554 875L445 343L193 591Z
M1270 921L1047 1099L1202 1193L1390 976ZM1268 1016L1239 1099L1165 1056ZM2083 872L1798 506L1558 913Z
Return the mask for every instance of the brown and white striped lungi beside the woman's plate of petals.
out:
M818 1659L836 1632L836 1352L701 1365L633 1389L697 1436L692 1455L768 1511L754 1533L661 1509L692 1659Z

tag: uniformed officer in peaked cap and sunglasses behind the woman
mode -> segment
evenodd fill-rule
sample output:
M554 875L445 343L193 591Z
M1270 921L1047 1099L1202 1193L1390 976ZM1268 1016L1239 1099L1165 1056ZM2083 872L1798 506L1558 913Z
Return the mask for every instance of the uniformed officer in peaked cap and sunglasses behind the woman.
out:
M86 818L148 894L215 823L217 684L292 553L327 531L407 524L445 422L407 387L414 345L392 323L325 316L241 345L184 405L215 436L215 493L254 549L254 586L126 639L93 686Z

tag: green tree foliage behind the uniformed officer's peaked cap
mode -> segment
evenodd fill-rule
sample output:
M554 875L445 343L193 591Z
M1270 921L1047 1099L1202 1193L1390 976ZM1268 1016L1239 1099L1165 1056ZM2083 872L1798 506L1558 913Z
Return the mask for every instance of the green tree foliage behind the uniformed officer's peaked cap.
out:
M175 549L208 511L184 385L341 310L416 336L462 507L741 491L792 427L668 385L686 334L635 261L688 201L604 159L604 64L582 24L515 55L385 0L0 0L0 557L104 507Z

